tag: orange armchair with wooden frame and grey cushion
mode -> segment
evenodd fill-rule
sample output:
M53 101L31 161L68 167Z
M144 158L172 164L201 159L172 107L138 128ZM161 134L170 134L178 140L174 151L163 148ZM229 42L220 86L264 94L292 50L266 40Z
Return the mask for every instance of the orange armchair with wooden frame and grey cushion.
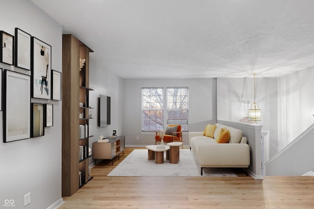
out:
M155 131L156 132L155 144L157 144L158 141L161 141L161 139L163 139L165 143L180 141L182 142L182 149L183 149L183 137L182 137L183 131L181 130L181 125L167 125L167 127L170 127L170 129L163 131L164 132L163 136L162 134L160 135L161 131ZM174 130L174 127L177 127L177 130ZM171 128L173 128L173 130L171 130Z

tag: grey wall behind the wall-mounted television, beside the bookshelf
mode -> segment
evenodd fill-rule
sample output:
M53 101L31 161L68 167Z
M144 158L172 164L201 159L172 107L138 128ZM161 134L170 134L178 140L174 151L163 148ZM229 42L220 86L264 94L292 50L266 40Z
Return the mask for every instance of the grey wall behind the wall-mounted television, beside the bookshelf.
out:
M89 147L92 148L92 143L99 139L100 135L104 137L112 135L112 130L117 130L118 135L122 135L122 78L119 78L112 72L108 71L104 66L100 65L94 59L95 53L90 53L89 62L89 86L94 91L89 91L89 105L93 107L92 115L94 119L89 120L89 124L92 125L92 135L89 139ZM98 126L98 98L99 95L105 95L111 97L111 123L106 127ZM89 164L93 163L93 159L90 158Z

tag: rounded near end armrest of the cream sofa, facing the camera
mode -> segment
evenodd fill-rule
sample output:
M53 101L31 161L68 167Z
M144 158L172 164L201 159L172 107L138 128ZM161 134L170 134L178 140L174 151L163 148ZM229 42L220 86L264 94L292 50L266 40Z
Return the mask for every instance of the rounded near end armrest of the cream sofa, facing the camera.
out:
M250 147L248 144L206 144L196 153L201 167L248 167Z

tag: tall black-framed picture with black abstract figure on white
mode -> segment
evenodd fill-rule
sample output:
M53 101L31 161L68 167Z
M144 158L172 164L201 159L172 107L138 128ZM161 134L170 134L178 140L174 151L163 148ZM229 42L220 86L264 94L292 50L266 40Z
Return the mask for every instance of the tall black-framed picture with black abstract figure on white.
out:
M32 97L51 99L51 46L31 37Z

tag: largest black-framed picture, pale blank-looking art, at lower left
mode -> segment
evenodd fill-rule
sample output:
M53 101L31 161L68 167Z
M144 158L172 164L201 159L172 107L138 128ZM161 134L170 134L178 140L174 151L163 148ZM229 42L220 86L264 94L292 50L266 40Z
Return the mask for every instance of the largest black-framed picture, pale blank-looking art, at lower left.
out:
M3 142L30 137L30 76L4 70Z

